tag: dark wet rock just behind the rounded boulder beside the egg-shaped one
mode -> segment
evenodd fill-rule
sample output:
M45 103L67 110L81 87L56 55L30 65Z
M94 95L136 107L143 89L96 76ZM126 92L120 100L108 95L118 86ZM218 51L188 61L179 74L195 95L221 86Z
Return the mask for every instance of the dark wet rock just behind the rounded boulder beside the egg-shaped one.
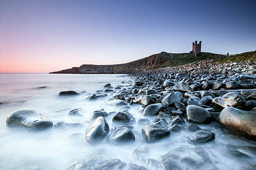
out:
M122 125L133 125L136 123L136 120L133 117L133 115L131 115L131 113L122 111L122 112L118 112L113 116L112 122L122 124Z

